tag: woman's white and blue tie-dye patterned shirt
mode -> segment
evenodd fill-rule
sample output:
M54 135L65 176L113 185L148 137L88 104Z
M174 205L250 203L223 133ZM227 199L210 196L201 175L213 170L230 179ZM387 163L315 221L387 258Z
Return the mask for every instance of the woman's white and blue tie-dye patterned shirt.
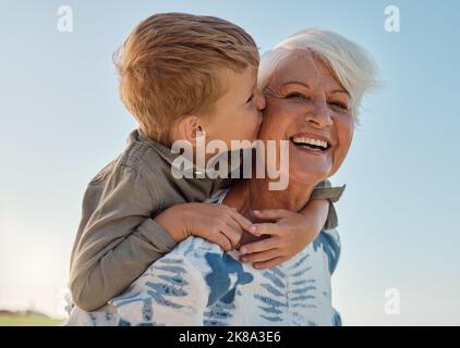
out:
M239 251L189 237L107 306L74 307L68 324L340 325L330 287L339 254L339 235L328 229L282 264L255 270Z

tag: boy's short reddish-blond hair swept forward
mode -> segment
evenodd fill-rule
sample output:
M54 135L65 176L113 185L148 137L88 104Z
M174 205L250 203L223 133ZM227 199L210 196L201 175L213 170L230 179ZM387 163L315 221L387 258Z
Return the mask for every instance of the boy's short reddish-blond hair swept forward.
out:
M141 22L113 60L120 96L152 139L170 145L181 115L211 111L225 94L222 72L258 66L254 39L221 18L161 13Z

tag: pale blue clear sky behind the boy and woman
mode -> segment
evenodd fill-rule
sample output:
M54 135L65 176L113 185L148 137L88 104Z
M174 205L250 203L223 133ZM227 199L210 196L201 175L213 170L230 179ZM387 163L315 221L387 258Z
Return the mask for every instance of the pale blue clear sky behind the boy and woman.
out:
M400 32L384 28L387 5ZM57 29L60 5L73 32ZM459 325L459 1L0 0L0 308L62 315L88 181L135 127L112 52L156 12L223 17L261 52L307 27L365 47L383 87L335 185L342 252L334 304L348 325ZM400 295L399 315L384 308Z

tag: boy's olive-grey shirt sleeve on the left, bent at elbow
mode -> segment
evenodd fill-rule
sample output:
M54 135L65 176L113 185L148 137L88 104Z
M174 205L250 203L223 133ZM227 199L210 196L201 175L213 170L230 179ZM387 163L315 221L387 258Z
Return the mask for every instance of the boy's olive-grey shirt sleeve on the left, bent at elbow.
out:
M89 184L71 260L77 307L104 306L173 248L173 237L150 219L158 203L148 183L129 166Z

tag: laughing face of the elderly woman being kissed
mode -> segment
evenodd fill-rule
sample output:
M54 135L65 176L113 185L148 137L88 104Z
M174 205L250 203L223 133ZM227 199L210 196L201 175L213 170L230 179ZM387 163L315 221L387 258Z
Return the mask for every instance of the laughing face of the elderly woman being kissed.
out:
M316 184L336 173L354 124L350 96L326 64L298 53L280 64L264 94L259 138L289 140L290 183Z

